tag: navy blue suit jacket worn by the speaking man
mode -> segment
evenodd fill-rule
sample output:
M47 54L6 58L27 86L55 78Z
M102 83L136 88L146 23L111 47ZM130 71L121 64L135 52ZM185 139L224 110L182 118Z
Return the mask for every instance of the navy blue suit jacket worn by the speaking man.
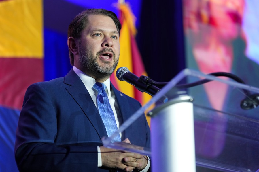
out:
M141 105L111 84L123 122ZM81 79L65 76L27 89L16 131L20 171L108 171L97 167L97 146L105 126ZM132 144L150 147L150 129L141 116L124 132ZM122 138L123 140L124 138Z

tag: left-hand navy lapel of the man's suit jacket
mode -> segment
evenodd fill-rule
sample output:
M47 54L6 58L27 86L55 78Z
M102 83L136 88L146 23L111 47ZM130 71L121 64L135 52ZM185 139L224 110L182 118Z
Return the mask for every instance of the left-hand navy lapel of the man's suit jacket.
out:
M105 126L102 122L101 116L92 101L90 94L88 93L84 83L77 76L77 74L71 69L69 73L64 77L64 83L68 85L66 90L81 107L82 111L95 128L100 139L103 136L107 136Z

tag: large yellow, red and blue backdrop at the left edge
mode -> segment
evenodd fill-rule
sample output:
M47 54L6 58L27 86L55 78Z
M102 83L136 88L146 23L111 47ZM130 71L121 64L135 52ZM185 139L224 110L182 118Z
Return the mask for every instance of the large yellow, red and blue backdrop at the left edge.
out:
M0 171L18 171L15 130L24 93L43 81L42 0L0 0Z

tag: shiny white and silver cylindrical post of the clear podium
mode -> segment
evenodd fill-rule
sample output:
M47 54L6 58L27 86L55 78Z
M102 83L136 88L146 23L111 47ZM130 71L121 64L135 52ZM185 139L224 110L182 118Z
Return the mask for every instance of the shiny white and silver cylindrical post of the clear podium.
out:
M180 96L149 113L152 171L196 172L192 100Z

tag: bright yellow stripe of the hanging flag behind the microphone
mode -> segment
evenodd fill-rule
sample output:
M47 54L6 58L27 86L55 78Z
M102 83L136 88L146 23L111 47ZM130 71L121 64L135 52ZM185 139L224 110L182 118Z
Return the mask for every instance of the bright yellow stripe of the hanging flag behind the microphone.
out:
M130 33L127 22L123 22L120 30L120 60L117 69L119 67L127 67L130 71L133 70L130 41ZM115 71L117 71L117 69ZM131 84L126 81L118 81L117 84L120 91L134 98L134 87Z

